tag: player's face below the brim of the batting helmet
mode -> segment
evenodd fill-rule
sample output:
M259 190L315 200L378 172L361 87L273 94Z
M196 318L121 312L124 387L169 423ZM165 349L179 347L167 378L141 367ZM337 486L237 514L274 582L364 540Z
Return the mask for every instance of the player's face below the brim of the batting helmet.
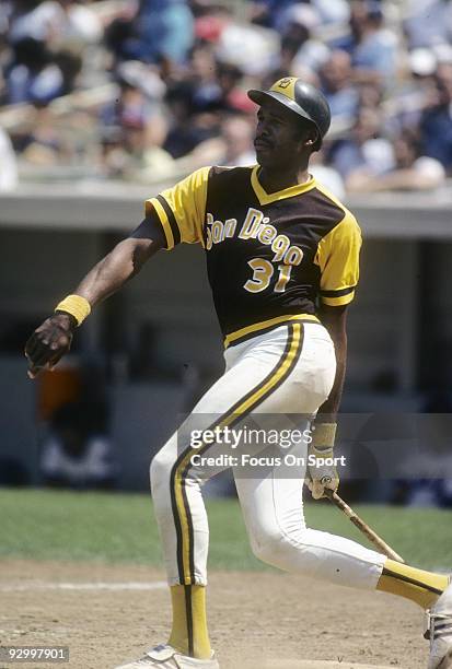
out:
M312 124L303 124L303 119L278 102L269 99L259 107L254 146L263 167L297 167L312 152L315 139Z

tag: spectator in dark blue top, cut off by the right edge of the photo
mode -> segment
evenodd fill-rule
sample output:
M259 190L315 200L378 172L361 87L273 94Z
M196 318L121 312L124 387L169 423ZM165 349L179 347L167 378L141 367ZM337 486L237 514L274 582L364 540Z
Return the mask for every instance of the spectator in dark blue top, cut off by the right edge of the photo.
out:
M428 108L420 119L422 152L452 173L452 63L440 64Z

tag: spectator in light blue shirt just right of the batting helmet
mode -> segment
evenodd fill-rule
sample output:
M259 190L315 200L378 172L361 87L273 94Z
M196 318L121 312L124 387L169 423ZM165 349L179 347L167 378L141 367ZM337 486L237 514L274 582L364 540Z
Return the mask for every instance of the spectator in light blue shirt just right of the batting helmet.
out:
M322 90L335 120L351 122L358 111L359 95L352 84L351 58L339 49L332 52L320 71Z

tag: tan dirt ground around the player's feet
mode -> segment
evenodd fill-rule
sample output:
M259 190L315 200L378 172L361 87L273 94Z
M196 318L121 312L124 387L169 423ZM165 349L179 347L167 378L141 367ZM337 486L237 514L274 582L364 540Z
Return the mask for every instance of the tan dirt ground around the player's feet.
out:
M163 580L163 572L137 565L3 561L0 645L69 646L69 665L33 665L39 669L113 669L166 641ZM127 589L141 583L157 586ZM91 589L74 589L84 584ZM420 609L381 592L279 573L213 572L208 614L221 669L427 665Z

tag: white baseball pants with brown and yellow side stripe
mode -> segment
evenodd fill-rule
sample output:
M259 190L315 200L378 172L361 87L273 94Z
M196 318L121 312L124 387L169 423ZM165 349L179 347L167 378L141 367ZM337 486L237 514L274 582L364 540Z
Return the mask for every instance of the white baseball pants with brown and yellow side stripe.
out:
M170 585L207 583L209 529L201 486L225 466L200 465L199 456L217 462L221 455L241 455L240 445L231 450L224 443L194 449L193 430L236 426L250 416L267 429L279 418L279 427L293 427L287 414L305 414L305 427L328 397L335 377L333 342L326 329L313 322L293 320L229 348L224 357L223 376L151 463L151 489ZM264 562L287 572L373 589L384 555L306 528L302 505L306 448L304 442L283 451L278 444L247 445L247 453L265 454L268 460L250 468L248 474L233 467L252 549ZM290 471L273 465L273 456L287 453L300 457L300 465L291 466ZM198 455L196 465L194 454Z

